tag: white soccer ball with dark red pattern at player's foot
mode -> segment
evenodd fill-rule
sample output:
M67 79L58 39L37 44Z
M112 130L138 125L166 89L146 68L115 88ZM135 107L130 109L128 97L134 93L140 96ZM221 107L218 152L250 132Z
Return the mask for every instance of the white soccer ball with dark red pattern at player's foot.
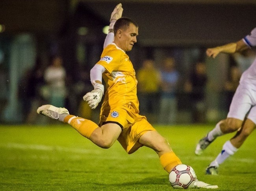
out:
M193 187L196 179L195 171L186 164L178 164L169 174L169 181L174 188L187 189Z

